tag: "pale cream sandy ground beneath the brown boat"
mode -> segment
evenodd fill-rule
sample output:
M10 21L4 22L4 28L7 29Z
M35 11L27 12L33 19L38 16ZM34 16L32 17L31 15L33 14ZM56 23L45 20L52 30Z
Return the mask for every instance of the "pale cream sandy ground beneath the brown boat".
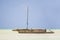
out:
M19 34L12 30L0 30L0 40L60 40L60 30L54 34Z

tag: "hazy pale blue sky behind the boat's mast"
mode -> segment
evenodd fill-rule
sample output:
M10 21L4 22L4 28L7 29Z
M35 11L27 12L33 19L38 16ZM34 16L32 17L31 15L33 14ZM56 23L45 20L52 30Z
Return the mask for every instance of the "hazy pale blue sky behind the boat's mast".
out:
M0 29L60 28L60 0L0 0Z

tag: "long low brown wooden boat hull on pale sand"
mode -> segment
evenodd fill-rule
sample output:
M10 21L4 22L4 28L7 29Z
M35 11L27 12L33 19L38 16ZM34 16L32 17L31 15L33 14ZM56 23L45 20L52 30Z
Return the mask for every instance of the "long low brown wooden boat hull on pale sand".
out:
M15 29L13 31L17 31L18 33L54 33L52 31L47 32L46 29Z

